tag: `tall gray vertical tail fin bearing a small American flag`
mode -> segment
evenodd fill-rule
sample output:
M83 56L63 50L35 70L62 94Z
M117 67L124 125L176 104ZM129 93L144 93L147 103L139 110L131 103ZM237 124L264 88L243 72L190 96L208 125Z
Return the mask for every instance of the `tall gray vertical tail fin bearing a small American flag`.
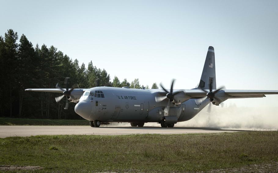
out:
M210 46L207 50L207 57L204 64L202 76L199 83L199 88L209 89L212 82L212 89L216 90L216 77L215 77L215 56L214 48Z

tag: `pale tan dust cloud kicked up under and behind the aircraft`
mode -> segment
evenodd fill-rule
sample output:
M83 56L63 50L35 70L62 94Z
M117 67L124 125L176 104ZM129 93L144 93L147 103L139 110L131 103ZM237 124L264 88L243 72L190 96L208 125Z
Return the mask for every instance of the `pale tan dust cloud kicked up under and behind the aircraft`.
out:
M208 106L207 106L208 107ZM178 122L175 127L206 127L237 130L278 130L277 107L236 107L211 105L210 113L204 108L191 120ZM111 123L102 126L131 127L130 123ZM161 127L157 123L145 123L144 127Z

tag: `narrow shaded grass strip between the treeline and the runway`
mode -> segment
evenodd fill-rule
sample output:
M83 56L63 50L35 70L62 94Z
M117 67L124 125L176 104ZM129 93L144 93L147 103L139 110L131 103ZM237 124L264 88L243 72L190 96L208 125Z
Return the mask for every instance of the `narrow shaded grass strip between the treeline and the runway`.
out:
M0 118L0 125L89 125L87 120Z

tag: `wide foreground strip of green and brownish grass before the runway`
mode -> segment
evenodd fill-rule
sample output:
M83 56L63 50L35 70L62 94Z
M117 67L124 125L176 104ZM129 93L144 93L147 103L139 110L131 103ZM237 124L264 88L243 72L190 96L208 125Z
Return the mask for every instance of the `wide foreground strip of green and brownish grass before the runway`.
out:
M207 171L278 161L278 131L0 139L0 165L37 172ZM26 171L23 171L26 172Z

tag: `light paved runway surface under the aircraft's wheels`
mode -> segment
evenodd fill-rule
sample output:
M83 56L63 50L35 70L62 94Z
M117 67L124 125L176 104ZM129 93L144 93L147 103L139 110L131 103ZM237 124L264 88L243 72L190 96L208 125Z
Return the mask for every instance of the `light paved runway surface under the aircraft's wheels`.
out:
M161 127L98 127L90 126L0 126L0 138L9 136L36 135L128 135L128 134L185 134L185 133L220 133L236 132L217 128L161 128ZM238 130L240 131L240 130Z

